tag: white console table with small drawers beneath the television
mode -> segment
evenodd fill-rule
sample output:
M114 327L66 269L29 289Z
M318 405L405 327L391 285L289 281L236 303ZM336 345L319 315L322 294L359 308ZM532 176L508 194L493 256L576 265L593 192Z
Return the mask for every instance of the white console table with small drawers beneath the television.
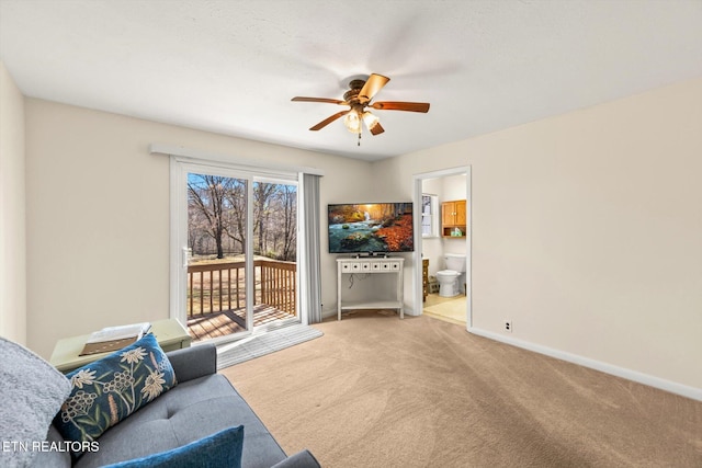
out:
M403 264L405 259L397 258L346 258L337 259L337 311L338 320L341 320L341 312L355 309L397 309L399 318L405 318L403 310L404 288L403 288ZM353 274L394 274L396 275L397 289L395 300L392 299L369 299L348 301L342 299L342 276Z

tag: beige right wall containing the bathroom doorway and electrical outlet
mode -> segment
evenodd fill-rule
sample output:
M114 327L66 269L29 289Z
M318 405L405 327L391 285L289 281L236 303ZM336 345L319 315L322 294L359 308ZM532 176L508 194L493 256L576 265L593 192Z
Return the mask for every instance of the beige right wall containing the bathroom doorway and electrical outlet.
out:
M471 164L476 329L702 389L701 128L697 79L373 173Z

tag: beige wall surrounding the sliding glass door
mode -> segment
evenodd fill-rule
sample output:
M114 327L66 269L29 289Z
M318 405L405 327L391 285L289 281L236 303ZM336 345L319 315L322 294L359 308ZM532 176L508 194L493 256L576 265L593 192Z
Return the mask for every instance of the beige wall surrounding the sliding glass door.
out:
M151 142L319 168L322 208L370 189L365 161L33 99L26 115L29 345L44 356L59 338L168 317L169 161ZM324 259L326 308L335 267Z

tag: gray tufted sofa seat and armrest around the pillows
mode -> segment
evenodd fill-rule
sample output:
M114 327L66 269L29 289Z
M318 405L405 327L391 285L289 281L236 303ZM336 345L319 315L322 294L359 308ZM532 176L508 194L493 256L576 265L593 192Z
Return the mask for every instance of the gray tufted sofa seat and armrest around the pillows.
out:
M167 355L178 385L110 427L99 438L98 452L86 453L75 464L66 452L41 452L34 456L33 466L99 467L166 452L220 430L244 425L244 468L319 467L307 450L291 457L285 455L244 398L216 373L214 345L199 345ZM47 440L63 441L53 424Z

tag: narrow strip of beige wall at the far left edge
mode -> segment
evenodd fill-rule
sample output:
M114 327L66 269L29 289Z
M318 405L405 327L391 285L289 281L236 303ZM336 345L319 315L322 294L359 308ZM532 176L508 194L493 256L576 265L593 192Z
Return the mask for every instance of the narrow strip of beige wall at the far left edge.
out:
M0 61L0 335L26 343L24 98Z

